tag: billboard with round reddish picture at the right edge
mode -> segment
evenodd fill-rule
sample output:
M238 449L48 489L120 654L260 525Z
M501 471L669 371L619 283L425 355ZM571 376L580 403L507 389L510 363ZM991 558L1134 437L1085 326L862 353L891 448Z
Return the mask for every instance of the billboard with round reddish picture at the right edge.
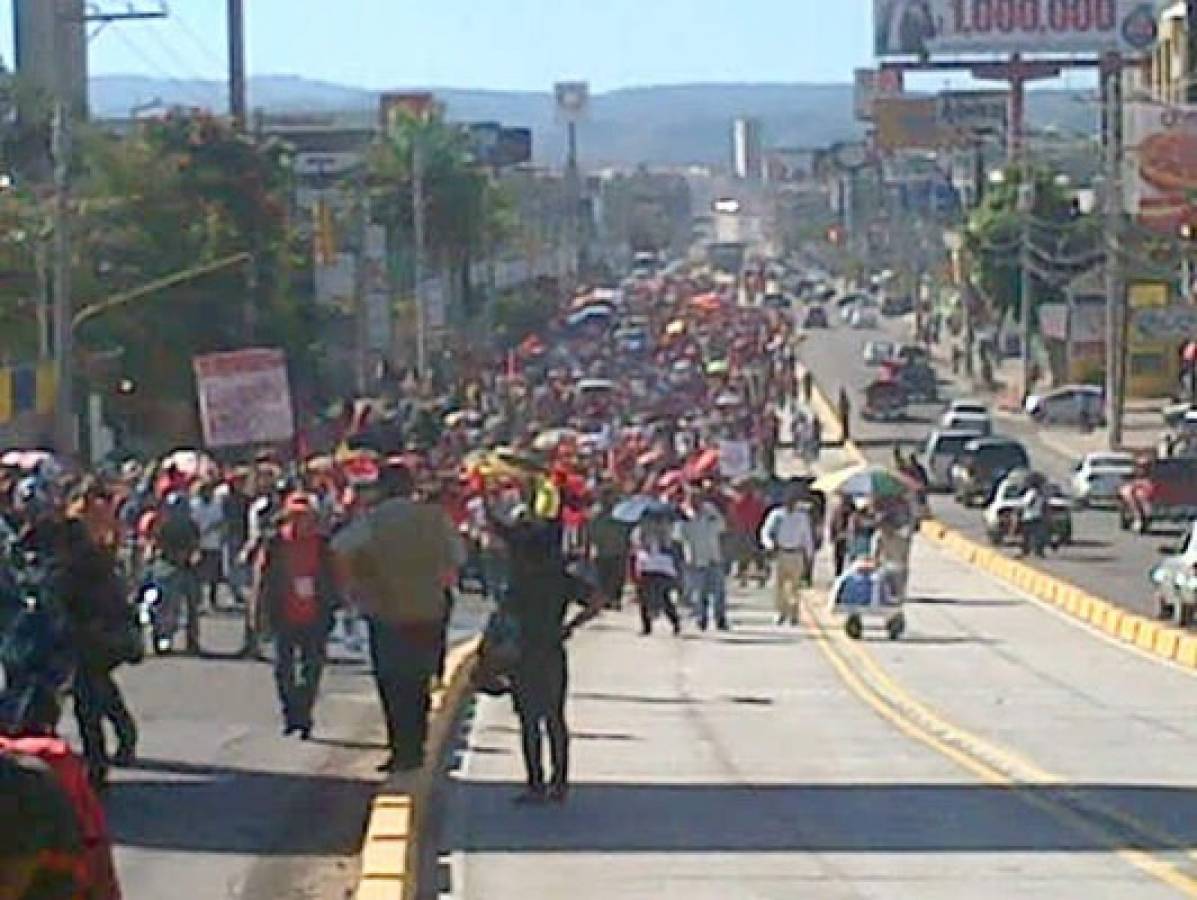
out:
M1124 107L1126 206L1153 231L1197 225L1197 105Z

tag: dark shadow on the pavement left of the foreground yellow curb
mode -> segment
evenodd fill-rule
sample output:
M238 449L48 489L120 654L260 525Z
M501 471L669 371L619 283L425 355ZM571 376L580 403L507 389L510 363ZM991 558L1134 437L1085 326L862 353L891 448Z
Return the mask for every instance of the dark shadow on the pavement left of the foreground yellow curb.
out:
M120 846L245 856L353 856L377 784L334 774L139 761L105 797ZM160 776L160 777L156 777ZM318 821L320 827L312 827Z

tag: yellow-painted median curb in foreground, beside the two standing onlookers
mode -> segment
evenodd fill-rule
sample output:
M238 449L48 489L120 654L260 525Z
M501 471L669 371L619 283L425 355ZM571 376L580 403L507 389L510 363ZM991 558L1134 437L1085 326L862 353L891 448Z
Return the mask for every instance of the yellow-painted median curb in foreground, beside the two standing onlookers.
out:
M357 900L414 900L419 896L420 832L452 740L454 724L473 694L470 676L480 643L480 638L473 638L449 651L444 687L432 695L424 768L393 776L370 804Z

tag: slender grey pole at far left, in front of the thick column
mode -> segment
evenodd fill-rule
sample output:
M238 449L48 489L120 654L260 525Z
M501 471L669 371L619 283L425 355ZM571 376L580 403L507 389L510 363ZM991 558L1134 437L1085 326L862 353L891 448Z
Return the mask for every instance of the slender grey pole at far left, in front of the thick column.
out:
M78 424L74 413L74 340L71 300L71 111L59 101L54 109L54 375L55 443L59 452L77 450Z

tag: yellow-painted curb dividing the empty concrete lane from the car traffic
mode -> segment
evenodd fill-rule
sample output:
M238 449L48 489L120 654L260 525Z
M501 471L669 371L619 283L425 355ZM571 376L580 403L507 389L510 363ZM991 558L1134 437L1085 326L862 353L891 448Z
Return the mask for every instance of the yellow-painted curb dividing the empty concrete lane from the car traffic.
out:
M831 430L843 439L839 418L822 389L815 384L812 405ZM845 454L865 462L864 454L851 440L844 442ZM1165 662L1197 670L1197 634L1171 627L1163 622L1130 613L1102 597L1081 590L1075 584L1040 572L1026 562L985 547L934 518L926 519L920 533L932 543L950 551L971 566L998 578L1088 627L1105 632L1110 638L1128 644L1137 651Z

